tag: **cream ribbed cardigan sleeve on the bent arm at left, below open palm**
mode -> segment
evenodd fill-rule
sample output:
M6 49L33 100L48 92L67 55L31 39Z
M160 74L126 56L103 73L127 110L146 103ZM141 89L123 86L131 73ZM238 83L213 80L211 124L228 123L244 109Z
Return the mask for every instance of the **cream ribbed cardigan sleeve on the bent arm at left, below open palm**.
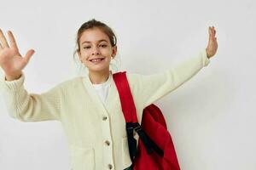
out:
M24 88L25 75L14 81L6 81L3 75L0 89L9 115L21 122L39 122L60 119L60 88L49 89L42 94L28 94Z

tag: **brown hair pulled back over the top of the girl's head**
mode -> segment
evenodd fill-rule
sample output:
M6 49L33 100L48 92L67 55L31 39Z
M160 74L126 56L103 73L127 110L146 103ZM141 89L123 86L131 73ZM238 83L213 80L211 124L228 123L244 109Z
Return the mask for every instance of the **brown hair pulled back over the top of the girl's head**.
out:
M91 29L91 28L99 28L101 31L103 31L105 34L107 34L107 36L109 37L111 46L112 47L116 46L116 43L117 43L116 36L114 35L113 30L109 26L107 26L106 24L102 23L101 21L98 21L95 19L88 20L79 28L79 31L78 31L77 37L76 37L76 45L78 46L78 48L75 50L73 57L75 56L75 54L77 52L80 51L79 41L80 41L80 37L82 36L83 32L88 29Z

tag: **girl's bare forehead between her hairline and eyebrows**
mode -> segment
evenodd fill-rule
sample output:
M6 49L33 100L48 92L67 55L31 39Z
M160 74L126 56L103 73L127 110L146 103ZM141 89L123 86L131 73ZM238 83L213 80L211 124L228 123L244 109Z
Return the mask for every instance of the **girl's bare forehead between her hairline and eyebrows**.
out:
M84 31L80 37L81 42L98 42L101 40L106 40L109 42L108 39L108 35L99 28L88 29Z

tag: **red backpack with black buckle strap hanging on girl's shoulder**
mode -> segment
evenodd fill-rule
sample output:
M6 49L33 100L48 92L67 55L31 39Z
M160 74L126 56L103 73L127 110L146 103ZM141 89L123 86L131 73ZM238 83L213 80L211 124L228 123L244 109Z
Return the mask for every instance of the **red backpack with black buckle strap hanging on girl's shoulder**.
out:
M160 109L148 105L143 110L142 126L137 122L137 111L131 95L126 71L113 74L125 116L126 133L133 170L180 170L172 137ZM133 137L134 130L139 136Z

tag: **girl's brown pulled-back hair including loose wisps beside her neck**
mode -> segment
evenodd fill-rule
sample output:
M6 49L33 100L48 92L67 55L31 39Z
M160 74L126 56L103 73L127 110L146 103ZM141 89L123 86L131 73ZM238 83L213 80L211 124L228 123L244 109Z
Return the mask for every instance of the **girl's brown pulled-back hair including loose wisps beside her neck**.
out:
M86 30L89 30L89 29L92 29L92 28L98 28L100 29L101 31L103 31L109 38L109 41L111 43L111 46L114 47L116 46L117 44L117 38L115 36L115 34L113 33L113 30L107 26L106 24L104 24L103 22L101 21L98 21L98 20L95 20L95 19L92 19L92 20L88 20L87 22L85 22L82 26L80 26L79 28L79 31L77 32L77 37L76 37L76 50L74 51L73 53L73 59L74 61L76 60L76 58L78 58L78 56L76 55L79 51L80 51L80 44L79 44L79 41L80 41L80 37L82 36L83 32L86 31ZM117 56L114 57L114 59L111 59L114 60L116 62L116 64L113 64L113 63L110 63L110 66L114 66L116 69L113 69L111 67L111 70L115 70L117 71L118 70L118 60L116 59ZM79 67L80 66L84 66L81 61L79 60Z

